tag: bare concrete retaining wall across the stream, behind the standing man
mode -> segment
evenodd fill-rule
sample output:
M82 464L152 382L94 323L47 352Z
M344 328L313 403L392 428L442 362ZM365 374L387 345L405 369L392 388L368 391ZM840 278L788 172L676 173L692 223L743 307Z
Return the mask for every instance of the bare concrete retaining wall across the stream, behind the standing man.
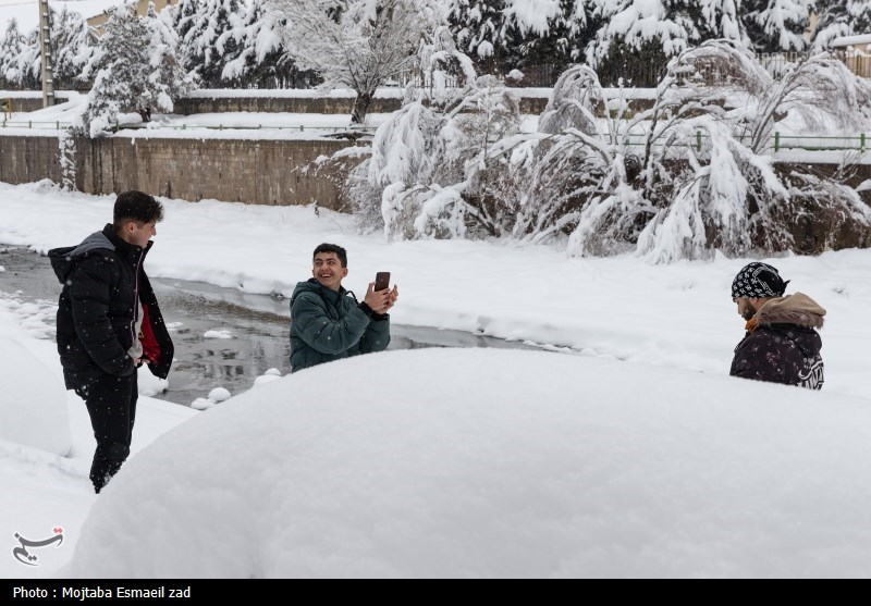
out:
M87 194L140 189L156 196L253 205L318 205L339 210L340 191L323 174L305 173L341 140L76 140L76 188ZM348 160L353 162L353 160ZM56 137L0 136L0 181L62 181Z

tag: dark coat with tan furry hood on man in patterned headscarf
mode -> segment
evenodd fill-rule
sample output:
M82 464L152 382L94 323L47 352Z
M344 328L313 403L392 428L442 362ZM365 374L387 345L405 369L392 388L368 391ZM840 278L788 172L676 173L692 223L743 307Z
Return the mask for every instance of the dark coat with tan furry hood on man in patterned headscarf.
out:
M748 322L729 374L822 388L822 339L814 329L823 325L823 316L825 309L801 293L768 301Z

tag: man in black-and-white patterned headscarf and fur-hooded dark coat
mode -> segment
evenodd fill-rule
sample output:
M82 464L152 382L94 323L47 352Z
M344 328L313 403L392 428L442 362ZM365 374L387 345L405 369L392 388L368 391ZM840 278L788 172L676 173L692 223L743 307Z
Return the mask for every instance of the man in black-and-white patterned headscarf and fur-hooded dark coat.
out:
M745 265L732 282L732 300L747 324L735 347L732 376L799 385L823 386L820 356L825 309L801 293L784 295L789 281L768 263Z

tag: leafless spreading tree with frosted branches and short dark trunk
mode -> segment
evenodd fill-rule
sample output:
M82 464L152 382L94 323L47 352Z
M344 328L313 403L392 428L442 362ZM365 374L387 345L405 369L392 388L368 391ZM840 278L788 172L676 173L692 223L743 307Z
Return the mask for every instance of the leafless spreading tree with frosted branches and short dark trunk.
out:
M361 123L376 88L417 62L427 34L442 21L425 0L271 0L287 20L284 45L300 70L323 78L323 88L357 94L352 122Z

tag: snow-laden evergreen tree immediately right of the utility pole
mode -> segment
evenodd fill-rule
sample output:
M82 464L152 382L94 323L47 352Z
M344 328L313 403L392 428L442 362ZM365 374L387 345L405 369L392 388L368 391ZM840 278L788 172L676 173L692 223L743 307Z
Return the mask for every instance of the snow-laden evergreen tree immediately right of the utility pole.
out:
M65 4L60 12L52 11L51 50L56 88L87 87L87 77L81 76L90 63L95 49L95 37L78 12L68 10Z

